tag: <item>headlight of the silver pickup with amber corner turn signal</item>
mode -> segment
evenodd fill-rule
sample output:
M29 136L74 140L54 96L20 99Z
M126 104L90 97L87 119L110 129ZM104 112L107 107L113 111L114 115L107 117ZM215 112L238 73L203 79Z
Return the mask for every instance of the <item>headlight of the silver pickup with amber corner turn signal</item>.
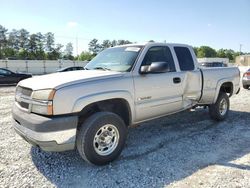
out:
M38 114L53 115L54 89L37 90L32 93L31 111Z

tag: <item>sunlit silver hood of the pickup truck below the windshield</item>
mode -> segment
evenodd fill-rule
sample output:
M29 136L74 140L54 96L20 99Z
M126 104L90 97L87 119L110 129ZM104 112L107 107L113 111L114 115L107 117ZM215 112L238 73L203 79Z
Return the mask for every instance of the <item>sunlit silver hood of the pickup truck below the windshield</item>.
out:
M124 73L103 70L58 72L43 76L34 76L33 78L28 78L19 82L18 85L26 88L31 88L32 90L53 88L59 89L61 87L87 81L120 77L123 74Z

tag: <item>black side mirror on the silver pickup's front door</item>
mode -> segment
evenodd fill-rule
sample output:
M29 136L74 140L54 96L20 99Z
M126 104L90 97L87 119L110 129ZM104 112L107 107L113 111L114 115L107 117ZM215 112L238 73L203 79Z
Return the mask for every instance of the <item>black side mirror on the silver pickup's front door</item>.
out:
M167 62L152 62L151 65L141 66L140 73L164 73L169 72L170 68Z

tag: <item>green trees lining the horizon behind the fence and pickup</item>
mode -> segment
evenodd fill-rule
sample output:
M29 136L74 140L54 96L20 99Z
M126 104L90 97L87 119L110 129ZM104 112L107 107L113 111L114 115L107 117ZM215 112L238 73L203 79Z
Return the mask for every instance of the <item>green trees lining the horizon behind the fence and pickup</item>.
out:
M78 57L73 56L73 44L68 43L62 52L63 45L55 45L54 34L33 33L30 34L25 29L13 29L7 33L8 29L0 25L0 59L15 57L18 59L37 59L37 60L57 60L61 58L76 60L91 60L102 50L117 45L130 44L128 40L103 40L101 43L97 39L89 42L89 51L83 51ZM154 42L150 40L149 42ZM209 46L194 47L197 57L222 57L235 59L240 55L231 49L215 49ZM248 53L241 53L248 54Z

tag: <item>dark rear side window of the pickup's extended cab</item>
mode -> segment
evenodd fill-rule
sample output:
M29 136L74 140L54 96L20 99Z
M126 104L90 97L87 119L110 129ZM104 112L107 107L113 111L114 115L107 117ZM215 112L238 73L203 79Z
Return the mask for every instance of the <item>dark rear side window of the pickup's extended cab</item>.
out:
M194 70L194 61L188 48L174 47L174 51L182 71Z

